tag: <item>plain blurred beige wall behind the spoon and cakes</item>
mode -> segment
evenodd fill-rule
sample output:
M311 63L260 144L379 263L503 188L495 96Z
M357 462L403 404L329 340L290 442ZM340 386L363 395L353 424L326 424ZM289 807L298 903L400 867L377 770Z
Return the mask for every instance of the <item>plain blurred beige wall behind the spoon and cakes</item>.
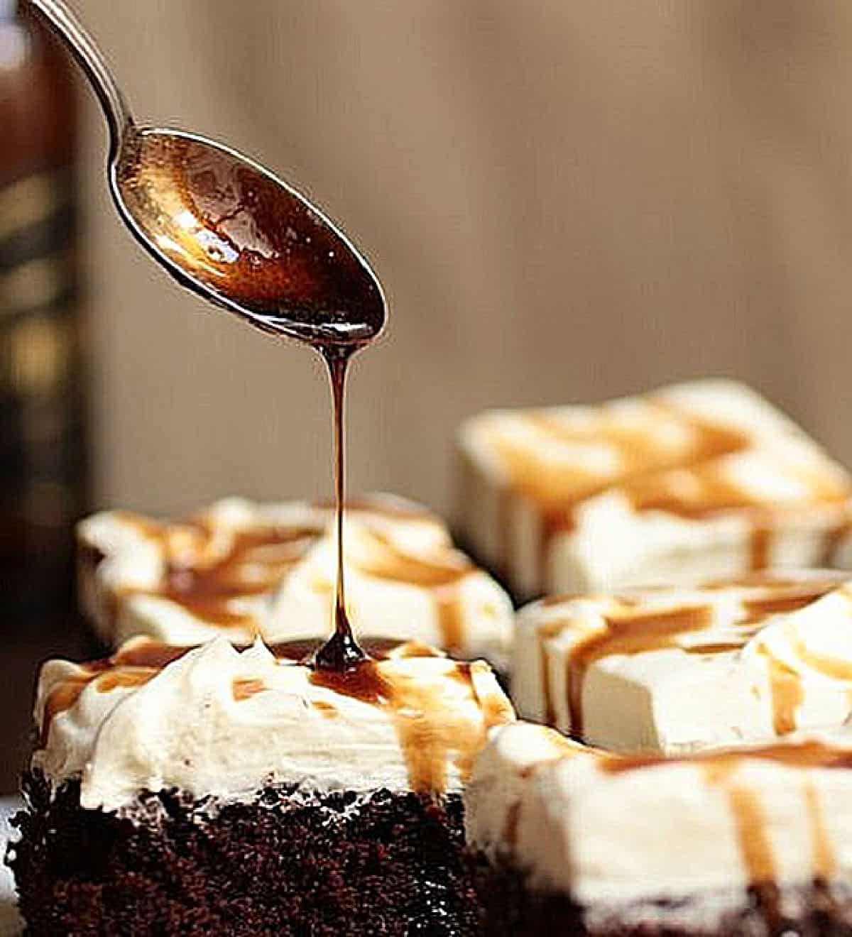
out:
M259 157L390 297L352 489L449 505L467 414L747 379L852 462L846 0L77 0L142 120ZM84 143L97 501L331 490L311 355L172 286Z

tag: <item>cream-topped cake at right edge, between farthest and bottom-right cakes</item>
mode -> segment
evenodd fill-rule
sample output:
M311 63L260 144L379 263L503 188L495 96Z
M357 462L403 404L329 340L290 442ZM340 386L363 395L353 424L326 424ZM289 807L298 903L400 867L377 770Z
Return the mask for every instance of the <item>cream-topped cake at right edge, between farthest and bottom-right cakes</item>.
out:
M518 712L612 751L678 753L840 725L852 578L753 573L545 599L517 617Z

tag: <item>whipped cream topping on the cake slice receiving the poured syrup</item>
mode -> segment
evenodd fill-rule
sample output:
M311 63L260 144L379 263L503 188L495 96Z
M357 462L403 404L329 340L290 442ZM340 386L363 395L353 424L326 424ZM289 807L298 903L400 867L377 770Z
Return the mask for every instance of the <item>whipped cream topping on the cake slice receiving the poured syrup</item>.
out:
M260 640L187 650L135 638L107 661L49 661L33 766L54 785L79 777L82 806L108 811L164 788L441 794L467 780L487 730L514 719L482 661L406 644L337 674L290 652Z

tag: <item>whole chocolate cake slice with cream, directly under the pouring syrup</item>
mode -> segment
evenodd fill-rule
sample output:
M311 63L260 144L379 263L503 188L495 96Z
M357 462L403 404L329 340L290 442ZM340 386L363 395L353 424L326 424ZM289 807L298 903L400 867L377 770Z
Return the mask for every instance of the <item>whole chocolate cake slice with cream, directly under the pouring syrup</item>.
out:
M304 651L137 638L42 667L7 854L30 933L477 932L460 791L514 719L489 667Z

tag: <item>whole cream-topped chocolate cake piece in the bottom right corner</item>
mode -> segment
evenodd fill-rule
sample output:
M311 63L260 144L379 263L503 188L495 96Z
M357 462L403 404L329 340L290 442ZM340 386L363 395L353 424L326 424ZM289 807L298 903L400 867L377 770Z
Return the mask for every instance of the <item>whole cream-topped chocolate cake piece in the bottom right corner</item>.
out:
M465 793L491 937L852 931L852 730L630 758L495 730Z

